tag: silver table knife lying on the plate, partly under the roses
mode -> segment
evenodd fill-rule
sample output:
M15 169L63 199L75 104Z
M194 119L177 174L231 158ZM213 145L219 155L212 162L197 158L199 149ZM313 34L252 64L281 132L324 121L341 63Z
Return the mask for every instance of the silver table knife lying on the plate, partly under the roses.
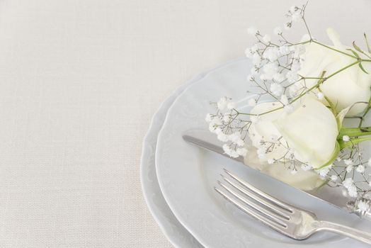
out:
M234 159L238 162L244 163L244 157L236 157L232 158L229 155L224 153L222 148L223 143L217 140L215 134L210 133L206 130L188 130L186 133L183 134L183 140L190 142L193 145L198 147L202 147L205 150L210 150L212 152L216 152L217 154L221 154L224 157L228 157ZM248 164L245 164L249 166ZM254 169L254 168L253 168ZM261 171L263 173L263 171ZM270 175L268 175L270 176ZM275 178L273 178L275 179ZM275 179L278 180L278 179ZM280 181L280 180L278 180ZM285 182L282 182L285 184ZM348 213L355 213L360 217L365 217L365 219L371 220L371 210L368 211L360 211L356 210L355 202L352 198L347 196L343 196L343 192L341 187L331 187L328 184L321 186L316 191L305 191L302 189L297 188L300 191L304 191L305 193L309 194L309 196L313 196L320 200L326 201L331 205L335 205L338 208L346 210Z

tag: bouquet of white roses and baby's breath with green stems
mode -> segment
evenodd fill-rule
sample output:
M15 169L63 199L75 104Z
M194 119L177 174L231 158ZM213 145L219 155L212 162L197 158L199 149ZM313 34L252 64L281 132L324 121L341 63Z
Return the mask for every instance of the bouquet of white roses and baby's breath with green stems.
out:
M316 40L305 19L306 6L290 8L289 21L273 30L275 39L248 29L256 43L245 51L253 63L247 81L256 91L240 101L220 98L212 103L216 113L206 120L230 157L243 156L247 164L255 156L272 169L270 174L299 188L342 187L344 196L355 199L355 208L366 211L371 159L361 143L371 140L371 127L365 125L371 108L371 47L366 35L365 49L355 42L343 45L332 28L327 34L333 45ZM287 40L285 32L300 21L307 34L296 43ZM241 103L251 110L239 111Z

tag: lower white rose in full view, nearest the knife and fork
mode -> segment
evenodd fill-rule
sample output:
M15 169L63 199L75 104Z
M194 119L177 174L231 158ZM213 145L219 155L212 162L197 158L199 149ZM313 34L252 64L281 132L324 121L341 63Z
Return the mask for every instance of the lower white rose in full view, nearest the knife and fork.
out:
M252 114L261 114L282 106L281 103L260 103ZM331 162L338 154L338 124L336 118L323 103L310 96L293 104L290 113L280 109L261 115L259 121L251 124L249 137L258 149L269 147L270 137L282 137L280 144L268 151L263 158L281 159L287 153L287 145L301 162L319 168ZM268 142L262 145L263 142ZM287 143L286 143L287 142Z

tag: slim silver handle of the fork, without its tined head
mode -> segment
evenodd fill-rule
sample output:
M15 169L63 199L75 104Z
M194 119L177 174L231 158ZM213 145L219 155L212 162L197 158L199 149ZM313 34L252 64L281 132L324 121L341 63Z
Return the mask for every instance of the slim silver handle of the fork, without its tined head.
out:
M318 221L314 223L314 227L316 227L316 231L323 230L334 232L338 235L344 235L365 242L366 244L371 244L371 234L369 232L363 232L352 227L347 227L346 225L340 225L328 221Z

